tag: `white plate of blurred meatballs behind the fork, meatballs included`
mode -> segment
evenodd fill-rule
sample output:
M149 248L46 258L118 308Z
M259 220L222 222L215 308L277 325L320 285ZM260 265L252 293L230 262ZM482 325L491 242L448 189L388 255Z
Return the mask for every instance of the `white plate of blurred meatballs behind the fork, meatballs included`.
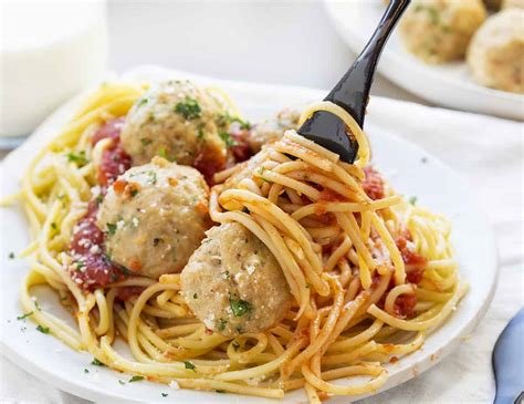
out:
M386 3L325 0L325 8L340 38L359 52ZM413 0L378 70L429 103L522 120L523 60L523 2Z

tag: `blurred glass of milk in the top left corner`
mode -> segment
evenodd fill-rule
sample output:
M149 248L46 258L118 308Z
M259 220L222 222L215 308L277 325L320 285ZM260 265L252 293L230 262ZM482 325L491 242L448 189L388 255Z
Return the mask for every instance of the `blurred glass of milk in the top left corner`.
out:
M0 12L1 142L102 80L108 41L104 0L2 0Z

